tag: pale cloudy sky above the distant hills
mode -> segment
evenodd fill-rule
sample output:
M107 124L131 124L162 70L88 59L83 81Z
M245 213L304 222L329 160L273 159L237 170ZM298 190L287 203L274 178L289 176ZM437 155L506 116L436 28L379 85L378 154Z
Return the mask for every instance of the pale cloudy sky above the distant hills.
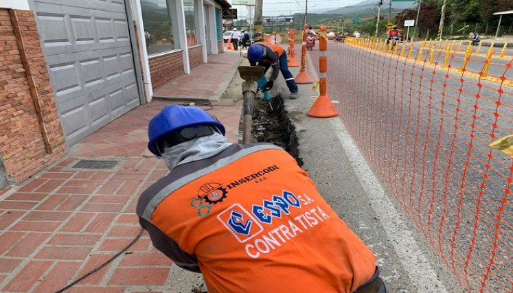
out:
M305 11L305 0L263 0L264 16L278 16L295 14ZM326 10L354 5L363 0L308 0L308 12L319 13ZM229 1L231 2L231 1ZM377 3L377 0L376 0ZM238 10L239 16L246 16L245 6L233 5Z

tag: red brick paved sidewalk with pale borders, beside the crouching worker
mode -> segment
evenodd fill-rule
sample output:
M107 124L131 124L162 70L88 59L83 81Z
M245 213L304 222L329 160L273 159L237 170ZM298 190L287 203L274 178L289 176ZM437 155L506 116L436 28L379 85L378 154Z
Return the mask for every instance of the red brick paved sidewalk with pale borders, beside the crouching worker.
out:
M138 106L73 145L60 163L0 190L0 292L59 290L139 233L138 196L168 173L145 150L148 121L166 104L173 103ZM240 103L208 110L225 124L231 142L237 141L240 111ZM74 167L83 159L115 166ZM145 233L127 253L66 292L177 292L171 264Z

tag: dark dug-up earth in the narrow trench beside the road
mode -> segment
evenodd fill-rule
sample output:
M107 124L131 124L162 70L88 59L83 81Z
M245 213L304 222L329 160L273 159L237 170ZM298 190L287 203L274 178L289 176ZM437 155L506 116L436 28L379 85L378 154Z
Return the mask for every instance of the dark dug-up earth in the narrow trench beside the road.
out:
M253 141L259 143L273 143L286 150L296 159L299 166L303 161L299 156L298 140L295 127L288 118L282 97L274 97L269 103L258 97L255 99L253 111Z

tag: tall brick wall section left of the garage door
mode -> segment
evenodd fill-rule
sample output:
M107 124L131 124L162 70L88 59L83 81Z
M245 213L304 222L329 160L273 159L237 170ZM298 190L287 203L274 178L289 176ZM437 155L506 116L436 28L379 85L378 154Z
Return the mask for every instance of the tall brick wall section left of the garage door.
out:
M0 160L21 183L66 152L34 14L0 9Z

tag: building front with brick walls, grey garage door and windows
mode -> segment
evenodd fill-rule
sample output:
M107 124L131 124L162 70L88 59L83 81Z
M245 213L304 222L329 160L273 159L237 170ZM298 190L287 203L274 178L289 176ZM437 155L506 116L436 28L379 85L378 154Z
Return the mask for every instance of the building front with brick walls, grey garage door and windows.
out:
M225 0L0 3L0 188L223 50Z

